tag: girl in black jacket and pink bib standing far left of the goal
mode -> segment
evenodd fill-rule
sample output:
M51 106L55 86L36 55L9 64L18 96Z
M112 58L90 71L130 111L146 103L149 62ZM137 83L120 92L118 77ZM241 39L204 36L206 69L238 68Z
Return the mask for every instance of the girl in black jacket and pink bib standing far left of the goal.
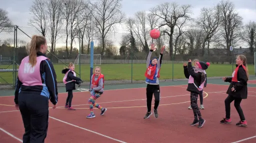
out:
M67 92L65 108L67 108L68 110L75 110L75 108L71 106L73 90L75 90L75 83L78 84L79 87L82 83L82 80L76 77L76 74L74 72L74 64L72 62L68 64L68 68L63 69L61 72L65 74L63 77L63 82L65 83Z

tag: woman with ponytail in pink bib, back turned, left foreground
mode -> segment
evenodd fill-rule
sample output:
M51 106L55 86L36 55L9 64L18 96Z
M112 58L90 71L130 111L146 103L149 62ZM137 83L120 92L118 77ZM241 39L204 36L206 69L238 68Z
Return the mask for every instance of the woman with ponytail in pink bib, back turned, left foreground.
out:
M48 128L48 99L52 108L57 105L56 74L46 51L45 37L33 35L29 55L19 66L14 102L25 128L23 142L44 142Z

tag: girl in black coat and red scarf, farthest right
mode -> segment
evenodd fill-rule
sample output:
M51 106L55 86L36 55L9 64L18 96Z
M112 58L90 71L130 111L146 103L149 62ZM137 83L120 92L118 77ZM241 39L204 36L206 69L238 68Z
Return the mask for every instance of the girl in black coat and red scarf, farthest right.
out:
M225 99L225 117L220 123L230 123L230 103L234 100L234 107L237 110L240 121L236 123L238 126L247 126L247 121L243 115L240 103L242 99L247 98L247 81L249 78L246 57L242 54L237 55L235 60L236 68L232 73L232 77L222 77L225 82L230 82L226 91L228 96Z

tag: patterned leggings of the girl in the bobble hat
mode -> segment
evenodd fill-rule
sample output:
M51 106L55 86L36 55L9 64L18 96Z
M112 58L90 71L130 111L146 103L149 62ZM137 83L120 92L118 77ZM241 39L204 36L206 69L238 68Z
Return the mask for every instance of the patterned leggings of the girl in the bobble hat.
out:
M198 108L197 105L197 98L198 98L198 94L194 93L194 92L190 92L190 105L193 109L193 113L194 113L194 119L197 119L197 116L199 119L201 119L201 112Z

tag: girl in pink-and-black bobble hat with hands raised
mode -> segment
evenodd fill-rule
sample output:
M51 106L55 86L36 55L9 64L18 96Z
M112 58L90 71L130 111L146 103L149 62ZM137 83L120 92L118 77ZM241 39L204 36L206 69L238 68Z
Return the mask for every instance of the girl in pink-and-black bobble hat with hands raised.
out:
M185 67L186 64L183 63L183 66ZM198 127L202 127L205 123L205 119L201 117L201 112L197 105L197 97L200 91L203 89L203 84L205 82L205 74L203 70L208 68L208 65L202 61L195 62L194 68L191 64L191 59L188 60L187 64L188 70L184 69L185 77L188 78L188 85L186 90L190 91L190 105L193 110L194 114L194 120L190 125L195 125L197 123ZM198 120L198 118L199 120Z

